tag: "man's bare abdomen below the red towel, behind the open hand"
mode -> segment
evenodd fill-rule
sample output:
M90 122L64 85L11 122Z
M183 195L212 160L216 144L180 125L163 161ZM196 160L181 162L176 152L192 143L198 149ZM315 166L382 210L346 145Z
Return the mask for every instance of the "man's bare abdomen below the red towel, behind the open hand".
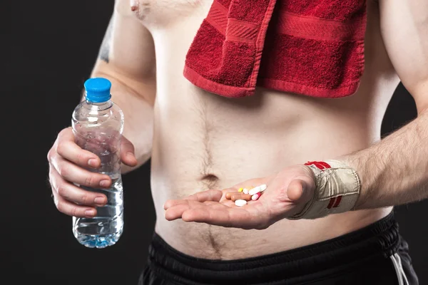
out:
M399 82L377 23L369 22L365 74L355 95L320 99L264 88L240 99L207 93L183 77L183 66L208 8L167 27L148 24L158 74L151 160L156 232L193 257L241 259L332 239L389 214L391 208L315 220L283 219L263 230L165 219L167 199L223 189L289 165L334 159L370 146L379 140L384 111Z

